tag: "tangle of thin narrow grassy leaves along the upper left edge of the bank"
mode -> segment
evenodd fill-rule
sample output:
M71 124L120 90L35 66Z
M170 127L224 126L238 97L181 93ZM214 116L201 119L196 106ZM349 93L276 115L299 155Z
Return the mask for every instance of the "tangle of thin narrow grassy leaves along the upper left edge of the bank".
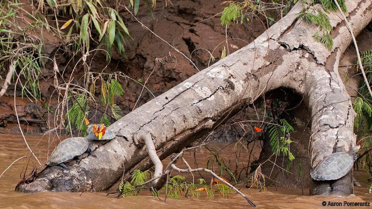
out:
M31 19L28 25L20 27L17 13L22 3L12 3L8 0L0 1L0 70L8 71L14 68L20 71L21 93L23 96L35 100L41 99L39 79L44 62L38 57L42 56L42 41L40 37L30 36L34 29L41 30L46 23L37 16L28 14ZM42 35L42 34L41 34Z

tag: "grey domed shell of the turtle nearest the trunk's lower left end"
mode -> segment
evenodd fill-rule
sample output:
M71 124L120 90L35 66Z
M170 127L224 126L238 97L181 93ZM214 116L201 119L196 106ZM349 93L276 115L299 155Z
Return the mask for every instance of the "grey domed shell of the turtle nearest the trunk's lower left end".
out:
M54 149L47 161L47 165L58 165L71 160L75 156L83 154L88 149L88 146L88 140L83 137L65 139Z

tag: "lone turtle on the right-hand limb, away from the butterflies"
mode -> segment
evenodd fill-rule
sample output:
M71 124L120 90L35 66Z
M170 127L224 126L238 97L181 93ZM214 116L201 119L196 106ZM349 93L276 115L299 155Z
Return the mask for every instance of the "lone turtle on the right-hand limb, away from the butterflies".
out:
M360 145L351 148L348 152L335 152L325 157L311 171L311 177L315 180L336 180L345 176L353 168L356 160L356 152Z

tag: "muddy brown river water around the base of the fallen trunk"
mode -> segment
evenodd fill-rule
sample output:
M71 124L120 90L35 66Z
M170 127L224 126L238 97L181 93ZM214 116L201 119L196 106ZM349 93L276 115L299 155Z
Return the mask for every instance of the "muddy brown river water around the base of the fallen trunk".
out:
M47 147L49 142L59 141L59 139L48 138L38 134L26 136L31 148L35 147L35 154L41 161L47 158ZM25 142L21 135L15 135L9 132L0 134L0 173L2 173L14 160L24 155L30 156ZM48 142L49 141L49 142ZM53 144L53 143L52 143ZM225 147L227 143L214 143L211 146L215 149ZM221 152L225 159L232 158L234 146L230 145ZM50 150L51 151L51 150ZM254 153L256 156L259 150ZM199 167L203 166L202 162L206 161L207 152L203 150L196 151ZM247 154L242 153L242 157ZM193 153L185 155L190 165L193 165ZM34 163L37 163L33 159ZM165 160L167 161L167 160ZM242 161L242 160L241 160ZM229 197L222 197L216 194L214 198L202 194L201 197L178 199L167 198L164 202L164 194L159 200L151 196L150 192L141 193L140 196L132 196L115 199L115 196L106 197L107 192L84 192L84 193L57 193L42 192L35 194L25 194L14 190L20 181L20 173L25 168L28 158L22 158L7 170L0 178L0 208L250 208L250 205L243 197L233 192ZM243 167L243 164L240 165ZM29 171L28 171L29 172ZM174 171L173 171L174 172ZM356 179L366 178L362 171L354 172ZM203 175L207 179L207 174ZM199 177L198 177L199 178ZM208 180L206 180L208 182ZM257 208L350 208L347 206L322 206L322 202L372 202L372 194L368 193L367 181L361 181L363 187L355 187L355 194L350 196L308 196L308 188L288 189L269 187L268 192L260 192L260 189L247 189L244 185L237 187L246 194ZM304 195L302 195L304 192ZM369 208L369 207L352 207L352 208Z

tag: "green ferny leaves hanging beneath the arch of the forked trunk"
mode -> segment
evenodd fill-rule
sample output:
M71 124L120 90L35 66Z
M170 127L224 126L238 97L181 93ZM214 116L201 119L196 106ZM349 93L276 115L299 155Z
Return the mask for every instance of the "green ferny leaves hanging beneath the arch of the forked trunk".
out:
M284 119L280 119L279 125L269 125L270 145L273 153L287 156L290 161L294 160L295 157L289 150L289 145L292 143L290 139L290 133L294 131L293 127Z

